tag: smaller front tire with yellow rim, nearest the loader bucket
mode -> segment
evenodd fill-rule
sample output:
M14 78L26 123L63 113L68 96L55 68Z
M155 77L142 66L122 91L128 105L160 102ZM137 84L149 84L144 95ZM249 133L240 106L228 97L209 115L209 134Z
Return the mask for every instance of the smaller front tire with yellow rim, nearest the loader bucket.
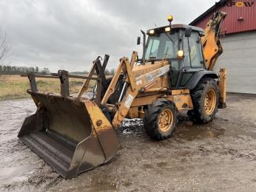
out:
M166 140L172 136L178 123L178 109L169 100L156 100L146 109L144 127L153 140Z

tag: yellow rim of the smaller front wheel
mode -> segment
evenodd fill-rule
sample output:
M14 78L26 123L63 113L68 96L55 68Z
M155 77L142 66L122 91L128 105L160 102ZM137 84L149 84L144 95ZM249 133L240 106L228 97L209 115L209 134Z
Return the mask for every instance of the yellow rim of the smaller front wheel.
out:
M172 111L170 109L164 109L159 116L159 120L158 120L159 129L164 132L168 131L169 128L172 127L172 123L173 123Z

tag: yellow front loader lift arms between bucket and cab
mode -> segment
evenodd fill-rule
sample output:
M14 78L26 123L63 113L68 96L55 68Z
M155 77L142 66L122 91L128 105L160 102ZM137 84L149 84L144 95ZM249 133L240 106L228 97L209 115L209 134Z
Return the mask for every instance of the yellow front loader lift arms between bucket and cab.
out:
M119 96L119 101L116 103L117 110L115 112L115 116L112 120L112 126L117 128L124 118L127 116L130 106L132 106L135 97L141 92L145 92L147 89L150 89L163 75L166 75L169 72L169 61L161 61L163 66L158 69L152 70L151 72L147 72L143 75L135 78L135 72L132 71L132 67L135 64L135 58L137 58L138 53L132 53L132 59L129 62L128 58L121 58L118 69L115 72L115 75L112 78L110 86L107 89L103 99L101 100L101 105L106 106L107 100L109 97L115 92L115 85L118 82L118 78L121 75L121 72L124 73L125 83L121 95ZM129 86L126 85L129 84Z

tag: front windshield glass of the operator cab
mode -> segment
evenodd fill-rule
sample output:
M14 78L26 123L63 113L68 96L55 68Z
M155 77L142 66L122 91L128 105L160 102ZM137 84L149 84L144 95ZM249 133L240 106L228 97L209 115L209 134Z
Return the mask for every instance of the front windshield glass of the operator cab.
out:
M146 44L146 60L177 58L178 32L149 36Z

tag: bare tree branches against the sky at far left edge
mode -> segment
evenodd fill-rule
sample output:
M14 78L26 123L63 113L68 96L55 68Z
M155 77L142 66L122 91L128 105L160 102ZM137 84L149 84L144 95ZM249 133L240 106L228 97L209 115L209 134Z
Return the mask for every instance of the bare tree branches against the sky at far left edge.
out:
M10 56L10 42L7 40L6 32L0 27L0 63Z

